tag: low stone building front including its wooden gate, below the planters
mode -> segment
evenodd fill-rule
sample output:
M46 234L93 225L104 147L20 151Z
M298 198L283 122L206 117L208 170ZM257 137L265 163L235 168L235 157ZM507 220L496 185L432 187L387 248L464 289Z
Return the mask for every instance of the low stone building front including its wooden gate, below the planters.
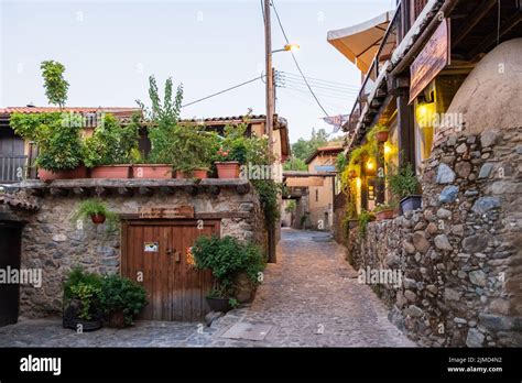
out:
M0 205L2 227L10 222L15 228L4 239L18 243L10 248L18 252L12 266L41 270L42 284L22 284L20 299L11 297L11 322L14 311L31 318L59 315L62 283L77 265L133 280L141 273L149 298L144 319L200 320L209 310L205 295L213 278L192 266L188 249L195 239L215 233L267 249L259 197L246 179L25 180L17 190L3 197L9 204ZM13 203L20 196L29 203ZM93 196L121 218L116 231L72 221L78 204ZM252 298L252 286L242 280L238 286L240 300Z

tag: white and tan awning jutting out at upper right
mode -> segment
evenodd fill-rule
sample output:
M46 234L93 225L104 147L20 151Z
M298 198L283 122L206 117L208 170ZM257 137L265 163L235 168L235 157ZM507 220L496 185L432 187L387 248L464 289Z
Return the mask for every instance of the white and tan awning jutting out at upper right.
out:
M392 18L393 12L384 12L361 24L330 31L328 42L367 74Z

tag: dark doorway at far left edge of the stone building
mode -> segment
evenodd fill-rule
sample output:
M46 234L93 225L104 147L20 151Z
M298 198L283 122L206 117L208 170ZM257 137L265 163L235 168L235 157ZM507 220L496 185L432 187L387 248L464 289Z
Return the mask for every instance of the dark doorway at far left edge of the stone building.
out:
M20 270L22 229L0 222L0 269ZM15 324L19 313L19 284L0 284L0 326Z

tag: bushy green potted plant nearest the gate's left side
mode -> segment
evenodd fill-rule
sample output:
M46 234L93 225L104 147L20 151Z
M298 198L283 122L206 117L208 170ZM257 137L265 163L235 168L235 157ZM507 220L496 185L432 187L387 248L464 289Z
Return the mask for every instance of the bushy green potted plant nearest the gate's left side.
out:
M131 326L146 305L143 286L120 275L107 275L101 281L100 305L109 327Z

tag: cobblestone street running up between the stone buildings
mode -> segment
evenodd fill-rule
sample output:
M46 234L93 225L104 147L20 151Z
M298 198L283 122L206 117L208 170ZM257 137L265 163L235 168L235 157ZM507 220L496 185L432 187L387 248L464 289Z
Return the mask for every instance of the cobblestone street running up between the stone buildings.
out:
M278 264L249 307L202 324L140 321L130 329L77 335L59 319L0 328L0 347L413 347L357 281L344 249L325 233L283 230ZM263 340L221 337L238 322L269 325Z

